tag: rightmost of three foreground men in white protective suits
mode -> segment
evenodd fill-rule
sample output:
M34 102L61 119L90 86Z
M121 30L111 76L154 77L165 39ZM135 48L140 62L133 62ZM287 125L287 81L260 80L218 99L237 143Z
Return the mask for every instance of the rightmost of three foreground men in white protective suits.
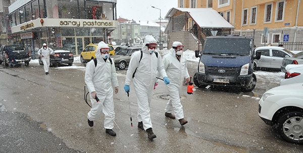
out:
M172 46L169 53L163 56L164 69L170 79L170 84L166 85L170 99L165 107L165 116L172 119L177 118L183 126L187 121L184 119L179 88L182 86L183 79L188 83L190 77L186 66L186 58L183 56L182 43L175 41Z

